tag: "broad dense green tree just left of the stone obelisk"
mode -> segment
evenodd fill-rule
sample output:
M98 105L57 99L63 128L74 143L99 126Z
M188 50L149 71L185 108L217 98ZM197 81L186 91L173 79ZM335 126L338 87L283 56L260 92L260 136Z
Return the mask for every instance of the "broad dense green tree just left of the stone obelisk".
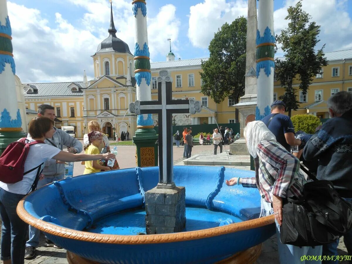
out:
M208 61L202 61L200 75L202 93L215 103L221 103L227 97L237 103L244 94L246 36L247 19L239 17L231 24L222 25L210 42L210 57Z

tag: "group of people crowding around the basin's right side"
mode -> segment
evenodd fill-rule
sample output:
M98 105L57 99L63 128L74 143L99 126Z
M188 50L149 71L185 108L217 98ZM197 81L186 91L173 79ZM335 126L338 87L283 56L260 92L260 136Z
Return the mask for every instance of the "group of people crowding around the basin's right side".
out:
M262 196L261 214L275 215L277 244L280 263L304 263L302 256L329 256L323 263L339 263L337 246L339 239L322 246L293 246L282 244L283 203L289 197L299 199L307 179L300 171L297 156L310 162L310 171L316 172L318 180L331 181L338 194L352 206L352 94L339 92L327 101L331 119L316 128L313 135L296 133L290 118L284 115L285 103L275 101L271 114L261 121L249 122L244 137L249 153L254 158L254 178L234 177L226 180L228 186L258 188ZM298 146L299 152L291 153ZM294 155L295 154L295 155ZM316 168L314 167L314 164ZM309 181L309 178L308 178ZM352 231L344 234L348 255L352 255ZM321 260L315 261L321 263Z

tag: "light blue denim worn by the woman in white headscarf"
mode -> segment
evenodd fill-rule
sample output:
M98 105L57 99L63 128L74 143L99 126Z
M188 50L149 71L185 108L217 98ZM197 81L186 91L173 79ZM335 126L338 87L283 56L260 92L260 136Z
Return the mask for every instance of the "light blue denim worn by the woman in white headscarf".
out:
M301 257L306 256L320 256L322 251L322 246L313 247L297 247L293 245L282 244L280 242L280 226L276 222L276 237L277 237L277 248L279 251L279 261L280 264L306 264L306 263L321 263L321 261L316 260L303 260Z

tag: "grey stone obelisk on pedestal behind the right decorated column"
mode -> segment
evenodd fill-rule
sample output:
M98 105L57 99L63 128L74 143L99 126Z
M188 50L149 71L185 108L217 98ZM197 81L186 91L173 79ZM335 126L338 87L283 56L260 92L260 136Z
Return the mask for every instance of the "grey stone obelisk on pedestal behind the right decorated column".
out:
M265 0L263 0L265 1ZM257 36L257 3L248 1L247 17L247 46L246 46L246 78L245 95L240 98L235 107L240 112L241 138L230 145L233 155L249 155L246 142L243 138L243 129L247 122L255 120L257 106L257 78L256 78L256 36Z

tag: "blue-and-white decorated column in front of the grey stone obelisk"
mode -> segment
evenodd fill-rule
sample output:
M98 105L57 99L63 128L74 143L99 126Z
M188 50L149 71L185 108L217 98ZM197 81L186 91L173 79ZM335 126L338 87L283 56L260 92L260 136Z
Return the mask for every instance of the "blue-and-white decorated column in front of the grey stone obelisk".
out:
M274 97L274 0L258 0L256 120L270 114Z

